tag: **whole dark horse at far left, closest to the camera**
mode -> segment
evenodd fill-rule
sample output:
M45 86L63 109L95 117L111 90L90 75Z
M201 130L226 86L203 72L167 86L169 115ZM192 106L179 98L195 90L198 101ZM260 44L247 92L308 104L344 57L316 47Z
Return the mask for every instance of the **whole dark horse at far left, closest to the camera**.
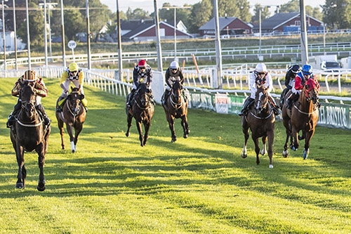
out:
M10 136L13 148L16 152L18 163L18 174L16 188L25 188L25 178L27 170L25 169L24 153L36 151L39 155L39 182L37 190L45 190L44 162L46 151L48 150L48 136L51 132L50 124L45 126L44 120L41 119L35 108L36 91L34 84L25 82L20 84L19 98L22 103L21 110L16 117L16 122L11 127Z

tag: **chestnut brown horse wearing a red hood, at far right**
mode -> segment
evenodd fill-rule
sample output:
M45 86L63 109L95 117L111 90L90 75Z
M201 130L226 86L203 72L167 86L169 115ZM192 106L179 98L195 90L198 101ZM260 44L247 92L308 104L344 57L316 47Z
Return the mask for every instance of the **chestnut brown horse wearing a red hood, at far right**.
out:
M298 101L293 103L291 111L286 108L284 101L282 117L286 129L286 141L284 145L283 157L288 157L288 141L291 138L290 148L298 150L298 140L305 138L305 147L303 150L303 159L307 159L310 152L310 141L314 134L318 121L318 89L314 79L307 79L303 86ZM303 136L298 136L299 131L303 131Z

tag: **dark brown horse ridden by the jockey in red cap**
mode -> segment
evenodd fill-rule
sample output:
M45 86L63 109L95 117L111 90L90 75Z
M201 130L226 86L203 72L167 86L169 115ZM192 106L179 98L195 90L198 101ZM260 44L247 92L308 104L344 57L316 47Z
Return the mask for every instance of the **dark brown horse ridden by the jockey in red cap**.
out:
M128 94L126 100L128 100L131 93ZM146 84L142 83L138 86L137 91L135 91L133 104L131 108L126 105L127 114L127 124L128 129L126 131L126 136L130 136L129 130L131 129L131 122L133 117L135 118L135 123L139 132L140 145L143 147L146 145L147 138L149 138L149 130L151 125L151 119L154 116L154 104L151 101L152 92L147 87ZM143 130L141 124L144 124L145 135L143 136Z

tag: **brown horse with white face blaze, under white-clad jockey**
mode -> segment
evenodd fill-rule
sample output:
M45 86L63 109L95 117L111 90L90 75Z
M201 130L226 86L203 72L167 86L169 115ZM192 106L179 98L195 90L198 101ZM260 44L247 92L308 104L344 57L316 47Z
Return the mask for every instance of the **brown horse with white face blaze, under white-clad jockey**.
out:
M255 143L256 164L260 164L258 154L265 155L267 153L266 142L268 138L268 157L270 157L270 168L273 168L273 141L274 141L274 124L275 116L273 109L269 103L267 89L258 86L255 94L255 103L250 108L246 116L241 116L241 126L245 137L244 148L241 157L247 157L246 143L249 139L249 129L251 130L251 138ZM260 151L258 146L258 138L262 137L263 149Z

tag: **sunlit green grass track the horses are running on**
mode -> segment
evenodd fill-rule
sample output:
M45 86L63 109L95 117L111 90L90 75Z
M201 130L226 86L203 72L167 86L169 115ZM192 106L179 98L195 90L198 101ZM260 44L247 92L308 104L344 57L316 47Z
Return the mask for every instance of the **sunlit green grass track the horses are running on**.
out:
M133 121L126 138L124 98L86 86L88 115L77 153L61 150L55 120L57 79L46 79L42 102L52 119L37 191L37 154L25 153L27 187L15 189L17 162L5 123L15 105L15 79L0 79L0 233L350 233L350 131L317 127L310 156L282 157L277 122L274 169L267 156L241 158L240 119L189 110L189 138L178 141L157 105L142 148ZM302 144L303 145L303 144Z

